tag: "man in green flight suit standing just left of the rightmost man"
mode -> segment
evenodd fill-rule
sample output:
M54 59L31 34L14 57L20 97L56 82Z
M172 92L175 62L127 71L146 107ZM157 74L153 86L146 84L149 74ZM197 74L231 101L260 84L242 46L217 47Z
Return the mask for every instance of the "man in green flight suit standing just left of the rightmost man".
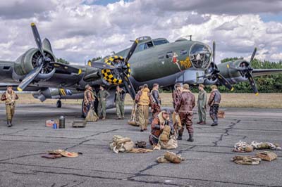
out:
M199 85L198 95L198 115L199 122L197 124L206 124L206 113L207 113L207 91L204 90L204 84Z

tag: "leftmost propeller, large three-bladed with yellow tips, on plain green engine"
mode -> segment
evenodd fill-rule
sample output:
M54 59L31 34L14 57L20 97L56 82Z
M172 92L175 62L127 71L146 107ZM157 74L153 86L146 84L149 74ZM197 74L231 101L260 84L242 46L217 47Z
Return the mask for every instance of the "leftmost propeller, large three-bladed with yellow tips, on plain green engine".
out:
M47 78L48 76L54 75L55 72L54 68L56 70L59 70L59 72L63 72L63 73L70 73L70 74L75 73L79 75L82 72L81 69L72 67L70 65L51 62L51 59L48 57L48 54L46 56L44 53L42 40L40 38L39 32L34 22L31 23L31 29L32 29L33 37L35 37L35 43L40 52L38 58L42 58L42 60L38 60L38 63L35 63L36 67L25 76L22 82L20 82L20 84L18 85L18 91L23 91L28 86L28 84L34 81L36 77ZM52 52L50 41L48 39L44 39L43 43L44 46L47 47L47 49L49 49ZM46 69L49 68L53 70L51 70L51 73L49 73L49 75L46 75L47 73Z

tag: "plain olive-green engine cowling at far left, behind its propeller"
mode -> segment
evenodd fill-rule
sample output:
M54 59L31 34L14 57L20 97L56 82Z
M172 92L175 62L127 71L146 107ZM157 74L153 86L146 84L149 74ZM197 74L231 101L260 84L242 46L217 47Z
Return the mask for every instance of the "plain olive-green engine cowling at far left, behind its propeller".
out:
M56 61L56 58L51 51L44 49L44 54L47 58L50 58L52 62ZM25 75L42 63L42 60L39 49L29 49L16 60L13 68L13 79L19 82L22 81ZM36 81L49 79L55 72L54 68L51 67L44 67L43 70L43 72L39 73L37 79L35 79Z

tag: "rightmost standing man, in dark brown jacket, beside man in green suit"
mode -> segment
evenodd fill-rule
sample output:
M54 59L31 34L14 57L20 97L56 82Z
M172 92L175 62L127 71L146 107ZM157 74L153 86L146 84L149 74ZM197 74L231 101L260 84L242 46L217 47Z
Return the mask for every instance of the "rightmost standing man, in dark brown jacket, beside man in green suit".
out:
M216 126L218 125L217 113L219 112L219 103L221 102L221 93L217 89L216 85L212 85L211 88L212 88L212 92L211 92L211 95L209 96L209 102L208 102L208 105L210 106L209 116L214 121L212 126Z

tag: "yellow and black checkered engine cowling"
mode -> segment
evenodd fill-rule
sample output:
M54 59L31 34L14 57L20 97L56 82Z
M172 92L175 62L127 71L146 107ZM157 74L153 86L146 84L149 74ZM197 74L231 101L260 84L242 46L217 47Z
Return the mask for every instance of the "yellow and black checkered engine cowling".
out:
M116 63L123 63L124 58L122 56L110 56L109 58L105 58L104 63L108 65L115 65ZM118 61L118 62L117 62ZM129 77L130 76L130 64L127 64L127 70L125 70L125 74ZM119 76L120 77L120 76ZM115 75L114 70L102 70L102 80L106 84L114 84L118 85L123 83L121 78Z

